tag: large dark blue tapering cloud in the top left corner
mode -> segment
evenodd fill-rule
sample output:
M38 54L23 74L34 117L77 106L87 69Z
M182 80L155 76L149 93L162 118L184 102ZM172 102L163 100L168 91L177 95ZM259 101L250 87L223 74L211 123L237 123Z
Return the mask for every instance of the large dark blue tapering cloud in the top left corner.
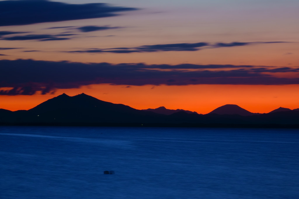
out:
M26 25L117 16L117 12L137 10L105 3L67 4L48 0L0 1L0 26ZM64 27L52 27L64 28Z

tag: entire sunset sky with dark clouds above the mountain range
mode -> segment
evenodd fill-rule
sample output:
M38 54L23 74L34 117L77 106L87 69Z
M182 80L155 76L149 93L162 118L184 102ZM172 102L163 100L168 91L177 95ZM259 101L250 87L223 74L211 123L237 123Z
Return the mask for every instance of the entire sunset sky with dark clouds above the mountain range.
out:
M0 108L299 108L298 0L0 0Z

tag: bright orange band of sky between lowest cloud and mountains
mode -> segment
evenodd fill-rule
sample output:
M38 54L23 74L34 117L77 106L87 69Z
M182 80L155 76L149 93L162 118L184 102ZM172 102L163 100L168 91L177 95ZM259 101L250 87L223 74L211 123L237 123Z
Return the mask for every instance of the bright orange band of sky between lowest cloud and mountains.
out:
M267 113L279 107L299 108L299 85L188 85L126 86L89 85L78 89L60 89L54 95L0 96L0 108L12 111L31 109L66 93L84 92L103 101L125 104L135 109L185 109L206 114L225 104L237 104L250 112Z

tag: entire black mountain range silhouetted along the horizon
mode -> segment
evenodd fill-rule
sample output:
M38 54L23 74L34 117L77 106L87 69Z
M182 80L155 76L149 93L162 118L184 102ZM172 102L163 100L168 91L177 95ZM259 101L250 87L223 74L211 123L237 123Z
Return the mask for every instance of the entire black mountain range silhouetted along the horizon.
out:
M164 110L165 107L158 109ZM169 111L169 109L166 109ZM209 114L176 111L170 115L137 110L123 104L101 101L84 93L65 93L29 110L0 109L1 125L96 125L96 126L178 126L178 127L299 127L299 111L251 113L234 104ZM168 112L167 112L168 114ZM274 125L274 126L273 126ZM276 125L276 126L275 126ZM278 125L278 126L277 126ZM295 125L295 126L294 126ZM297 126L296 126L297 125Z

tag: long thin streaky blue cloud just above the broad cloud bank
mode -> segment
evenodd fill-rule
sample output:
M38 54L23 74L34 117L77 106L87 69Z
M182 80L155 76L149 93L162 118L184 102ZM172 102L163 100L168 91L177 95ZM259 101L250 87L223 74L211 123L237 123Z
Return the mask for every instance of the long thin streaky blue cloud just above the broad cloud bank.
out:
M67 53L143 53L143 52L161 52L161 51L197 51L205 47L221 48L221 47L235 47L246 46L251 44L269 44L269 43L288 43L283 41L270 42L231 42L231 43L216 43L209 44L206 42L199 43L180 43L180 44L157 44L144 45L132 48L106 48L106 49L84 49L76 51L67 51Z

